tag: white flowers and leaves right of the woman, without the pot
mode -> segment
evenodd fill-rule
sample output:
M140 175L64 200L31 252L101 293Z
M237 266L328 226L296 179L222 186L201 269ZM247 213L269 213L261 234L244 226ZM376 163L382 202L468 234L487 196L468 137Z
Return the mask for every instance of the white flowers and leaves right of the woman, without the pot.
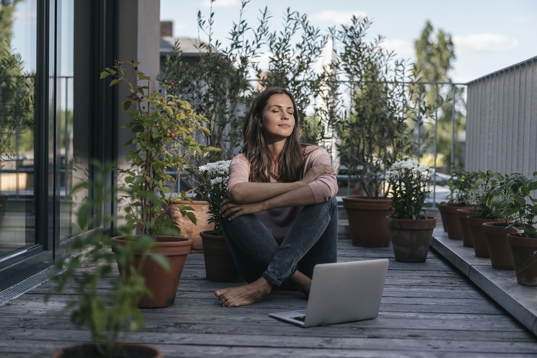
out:
M426 219L423 205L431 192L429 182L434 170L419 166L417 160L395 162L386 171L386 180L391 184L391 215L395 219ZM423 215L421 214L423 212Z

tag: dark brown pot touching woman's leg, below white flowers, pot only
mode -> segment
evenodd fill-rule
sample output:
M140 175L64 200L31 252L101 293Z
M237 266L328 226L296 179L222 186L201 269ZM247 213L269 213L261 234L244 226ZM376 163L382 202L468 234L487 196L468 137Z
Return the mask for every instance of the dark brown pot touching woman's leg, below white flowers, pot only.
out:
M216 282L244 281L237 271L226 238L222 235L211 235L210 232L211 230L207 230L200 233L207 280Z

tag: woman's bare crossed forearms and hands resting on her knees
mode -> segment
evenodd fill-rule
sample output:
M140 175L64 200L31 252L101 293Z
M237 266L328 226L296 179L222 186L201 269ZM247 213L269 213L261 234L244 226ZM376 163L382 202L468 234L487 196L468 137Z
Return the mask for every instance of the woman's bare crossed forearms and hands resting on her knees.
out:
M315 204L309 183L323 174L336 175L328 164L319 164L293 183L237 183L229 192L229 199L222 202L222 218L233 220L243 214L253 214L267 209Z

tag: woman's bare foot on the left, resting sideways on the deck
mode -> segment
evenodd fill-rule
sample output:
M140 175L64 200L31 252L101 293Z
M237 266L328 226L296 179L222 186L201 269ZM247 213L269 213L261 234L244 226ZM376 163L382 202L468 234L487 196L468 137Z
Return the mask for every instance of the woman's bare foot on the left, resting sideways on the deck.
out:
M224 307L238 307L261 301L271 290L272 285L261 277L248 285L217 289L214 294Z

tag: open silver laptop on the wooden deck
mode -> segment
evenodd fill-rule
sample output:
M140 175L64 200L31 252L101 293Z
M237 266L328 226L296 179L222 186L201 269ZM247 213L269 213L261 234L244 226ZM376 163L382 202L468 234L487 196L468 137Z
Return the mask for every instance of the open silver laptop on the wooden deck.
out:
M269 316L301 327L375 318L379 314L388 262L383 258L317 264L307 309Z

